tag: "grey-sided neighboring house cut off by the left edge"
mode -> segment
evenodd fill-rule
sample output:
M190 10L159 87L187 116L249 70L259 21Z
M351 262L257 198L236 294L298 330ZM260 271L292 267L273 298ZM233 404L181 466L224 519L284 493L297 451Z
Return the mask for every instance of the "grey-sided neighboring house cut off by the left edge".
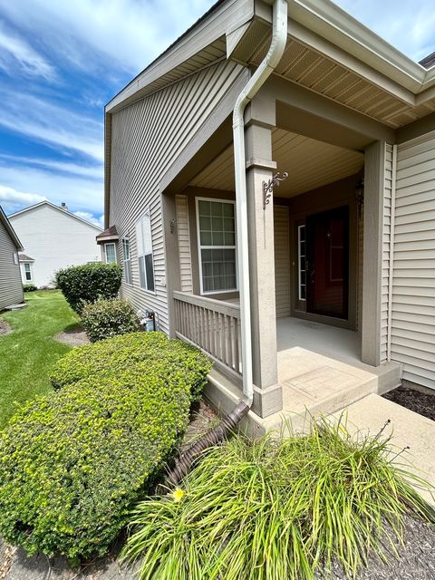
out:
M0 206L0 311L24 301L18 252L23 249Z

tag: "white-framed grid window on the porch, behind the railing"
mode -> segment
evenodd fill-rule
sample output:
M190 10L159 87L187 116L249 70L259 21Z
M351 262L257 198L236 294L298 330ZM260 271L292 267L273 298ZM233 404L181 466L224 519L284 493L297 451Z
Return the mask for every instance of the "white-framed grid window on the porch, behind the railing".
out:
M197 198L197 216L201 294L236 291L234 202Z

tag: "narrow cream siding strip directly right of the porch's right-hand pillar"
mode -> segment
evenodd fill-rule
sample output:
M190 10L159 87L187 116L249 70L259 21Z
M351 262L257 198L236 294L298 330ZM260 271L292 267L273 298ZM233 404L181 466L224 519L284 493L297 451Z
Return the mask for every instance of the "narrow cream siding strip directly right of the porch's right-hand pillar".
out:
M382 230L381 362L388 358L389 285L391 257L392 145L385 144Z

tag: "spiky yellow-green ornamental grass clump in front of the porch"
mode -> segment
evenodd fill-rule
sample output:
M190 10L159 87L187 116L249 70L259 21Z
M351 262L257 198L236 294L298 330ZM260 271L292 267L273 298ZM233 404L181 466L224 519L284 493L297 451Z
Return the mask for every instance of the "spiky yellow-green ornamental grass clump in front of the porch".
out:
M389 449L326 421L306 437L235 437L140 502L122 558L141 559L140 580L307 580L337 561L353 577L385 543L394 552L406 515L433 517Z

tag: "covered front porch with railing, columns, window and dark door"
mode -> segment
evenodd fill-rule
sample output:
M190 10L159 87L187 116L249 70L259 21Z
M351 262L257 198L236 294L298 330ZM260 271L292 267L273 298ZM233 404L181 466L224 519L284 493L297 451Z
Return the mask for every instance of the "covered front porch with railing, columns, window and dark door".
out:
M252 414L262 424L336 411L401 380L386 348L391 147L347 113L296 115L285 88L274 79L246 120ZM215 147L212 159L192 160L162 202L169 333L215 361L208 398L230 411L243 367L234 152L224 129L204 146ZM289 177L272 191L277 171Z

